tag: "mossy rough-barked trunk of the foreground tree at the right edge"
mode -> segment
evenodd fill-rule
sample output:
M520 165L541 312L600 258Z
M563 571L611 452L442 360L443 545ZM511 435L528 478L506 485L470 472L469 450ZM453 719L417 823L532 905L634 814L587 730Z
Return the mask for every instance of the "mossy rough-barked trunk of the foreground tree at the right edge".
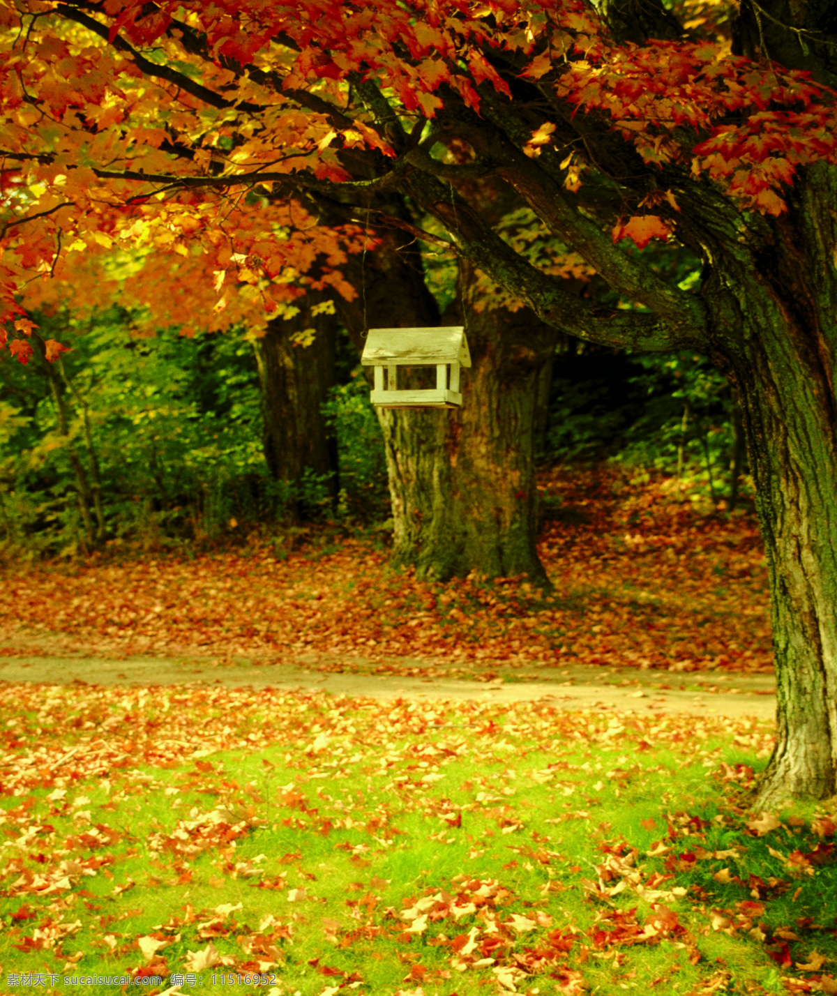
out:
M823 252L837 244L835 201L837 169L811 168L769 250L716 261L726 286L705 295L739 392L769 568L778 730L762 806L837 791L837 272Z

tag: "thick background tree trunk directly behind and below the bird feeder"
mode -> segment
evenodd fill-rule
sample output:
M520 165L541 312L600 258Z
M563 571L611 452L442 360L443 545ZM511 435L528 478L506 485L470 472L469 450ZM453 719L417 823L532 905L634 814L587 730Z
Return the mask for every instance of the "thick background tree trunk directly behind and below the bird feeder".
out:
M415 565L426 579L476 571L527 575L550 587L535 547L534 433L539 374L557 332L524 309L476 314L472 305L466 302L473 366L462 373L462 406L380 412L394 562ZM461 319L448 313L443 321Z

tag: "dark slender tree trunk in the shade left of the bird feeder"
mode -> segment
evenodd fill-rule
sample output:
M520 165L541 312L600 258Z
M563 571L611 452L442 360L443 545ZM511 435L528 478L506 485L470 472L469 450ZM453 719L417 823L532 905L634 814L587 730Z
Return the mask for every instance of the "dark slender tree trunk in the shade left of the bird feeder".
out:
M334 502L338 481L337 441L320 410L335 383L335 349L338 318L314 316L313 308L331 295L312 291L294 305L299 314L290 319L276 318L267 334L256 344L256 361L262 391L264 415L264 454L270 473L288 484L287 514L292 520L311 517L301 495L306 471L325 477ZM295 333L313 329L309 346L291 342Z

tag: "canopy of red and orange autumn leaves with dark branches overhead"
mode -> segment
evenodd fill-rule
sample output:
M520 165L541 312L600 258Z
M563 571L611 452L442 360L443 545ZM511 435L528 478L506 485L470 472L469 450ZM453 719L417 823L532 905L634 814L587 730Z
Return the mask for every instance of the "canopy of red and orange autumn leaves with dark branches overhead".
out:
M26 363L27 301L74 273L96 293L90 257L115 248L144 247L137 293L185 325L263 323L306 286L351 298L346 251L370 245L361 226L390 224L454 248L574 335L705 343L698 296L620 240L676 238L705 257L710 206L734 208L725 225L780 216L798 167L837 141L823 31L793 29L786 66L762 38L754 62L732 54L720 10L3 2L0 341ZM488 174L635 310L580 301L493 231L456 190ZM394 191L449 236L389 210ZM60 351L49 341L49 359Z

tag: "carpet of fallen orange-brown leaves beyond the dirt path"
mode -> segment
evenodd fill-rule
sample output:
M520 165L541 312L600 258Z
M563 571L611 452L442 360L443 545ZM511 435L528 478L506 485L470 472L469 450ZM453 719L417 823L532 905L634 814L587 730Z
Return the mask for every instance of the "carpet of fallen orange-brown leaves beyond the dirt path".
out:
M555 585L545 597L525 578L422 582L323 527L290 553L254 539L194 559L7 566L0 655L162 651L281 666L313 654L327 671L484 680L498 665L771 670L751 517L699 515L672 481L612 468L561 468L539 486L538 551Z

